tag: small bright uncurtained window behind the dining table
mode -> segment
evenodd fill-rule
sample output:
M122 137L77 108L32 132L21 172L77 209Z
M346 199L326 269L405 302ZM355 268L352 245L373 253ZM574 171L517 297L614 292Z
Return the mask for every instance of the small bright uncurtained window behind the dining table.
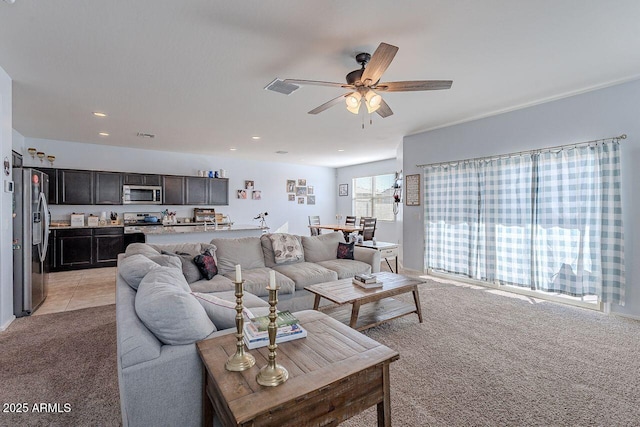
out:
M393 184L395 174L353 179L353 214L393 221Z

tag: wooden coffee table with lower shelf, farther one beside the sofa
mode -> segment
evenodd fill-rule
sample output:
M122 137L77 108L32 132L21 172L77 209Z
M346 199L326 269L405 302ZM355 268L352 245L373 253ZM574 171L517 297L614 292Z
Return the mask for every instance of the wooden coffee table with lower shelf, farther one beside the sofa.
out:
M383 282L381 288L365 289L354 285L352 279L348 278L318 283L305 289L315 294L314 310L320 309L358 331L411 313L416 313L422 323L418 285L424 283L424 280L388 272L374 275ZM408 292L413 293L413 304L391 298ZM334 302L337 306L320 307L322 298ZM350 310L347 304L351 304Z

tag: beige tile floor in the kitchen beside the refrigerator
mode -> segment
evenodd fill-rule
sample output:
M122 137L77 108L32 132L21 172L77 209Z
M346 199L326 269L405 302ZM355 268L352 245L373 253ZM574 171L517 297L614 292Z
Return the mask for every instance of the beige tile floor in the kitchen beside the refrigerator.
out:
M49 274L49 293L34 316L115 304L116 267Z

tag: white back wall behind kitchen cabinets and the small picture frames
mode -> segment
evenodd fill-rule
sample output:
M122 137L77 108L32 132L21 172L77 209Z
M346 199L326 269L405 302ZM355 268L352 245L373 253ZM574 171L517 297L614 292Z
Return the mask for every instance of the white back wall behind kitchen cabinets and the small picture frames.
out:
M228 214L236 224L255 224L253 218L260 212L268 212L267 225L271 232L283 231L307 235L308 216L329 218L336 211L335 169L288 163L269 163L239 160L233 157L212 157L188 153L141 150L105 145L83 144L49 139L25 138L23 153L29 147L56 156L54 167L124 171L155 174L197 176L198 170L226 169L229 178L229 206L218 206L216 212ZM25 166L50 167L45 160L23 154ZM304 178L314 187L315 205L299 205L289 202L286 193L287 179ZM240 200L236 190L244 188L245 180L253 180L255 189L262 191L262 200ZM102 211L160 212L168 208L178 216L193 216L193 206L125 205L125 206L51 206L53 219L69 219L71 212L99 214Z

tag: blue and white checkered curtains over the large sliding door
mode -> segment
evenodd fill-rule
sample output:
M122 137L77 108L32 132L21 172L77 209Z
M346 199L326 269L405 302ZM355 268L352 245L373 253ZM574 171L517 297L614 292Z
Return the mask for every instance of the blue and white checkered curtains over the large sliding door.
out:
M425 268L624 304L619 144L424 169Z

